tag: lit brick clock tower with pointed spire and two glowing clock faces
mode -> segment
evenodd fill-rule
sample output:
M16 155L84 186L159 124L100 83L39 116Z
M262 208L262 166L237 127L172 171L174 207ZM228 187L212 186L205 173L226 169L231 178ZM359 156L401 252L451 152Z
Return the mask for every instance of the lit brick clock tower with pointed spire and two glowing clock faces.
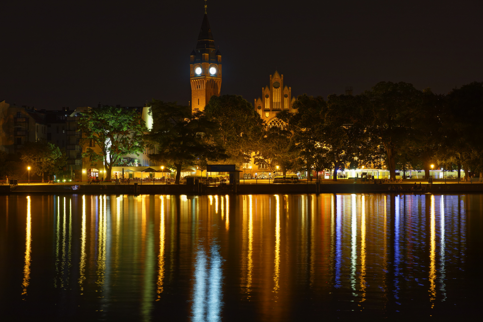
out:
M213 95L220 96L222 75L221 53L214 45L212 30L206 14L206 4L196 49L190 55L189 72L191 112L195 109L203 111Z

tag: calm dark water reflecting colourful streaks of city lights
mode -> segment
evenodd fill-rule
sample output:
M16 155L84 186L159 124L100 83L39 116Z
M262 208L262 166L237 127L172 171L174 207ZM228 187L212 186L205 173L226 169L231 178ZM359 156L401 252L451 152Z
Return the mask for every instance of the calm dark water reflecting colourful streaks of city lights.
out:
M483 195L0 196L2 318L481 314L482 219Z

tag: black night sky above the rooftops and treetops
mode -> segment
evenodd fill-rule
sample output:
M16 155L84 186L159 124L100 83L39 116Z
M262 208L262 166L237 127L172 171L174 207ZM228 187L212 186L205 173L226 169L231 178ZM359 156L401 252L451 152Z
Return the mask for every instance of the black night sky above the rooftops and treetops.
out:
M37 109L188 104L202 0L3 1L0 100ZM379 81L447 93L483 81L483 1L208 0L222 94L253 104L275 68L292 95Z

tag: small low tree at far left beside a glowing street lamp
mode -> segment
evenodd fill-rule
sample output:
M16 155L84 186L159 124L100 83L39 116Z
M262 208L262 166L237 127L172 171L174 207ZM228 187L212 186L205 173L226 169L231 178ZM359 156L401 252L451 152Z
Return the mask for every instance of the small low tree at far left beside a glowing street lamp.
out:
M67 161L65 153L60 152L57 145L45 141L26 142L20 158L42 177L42 183L45 172L56 171Z

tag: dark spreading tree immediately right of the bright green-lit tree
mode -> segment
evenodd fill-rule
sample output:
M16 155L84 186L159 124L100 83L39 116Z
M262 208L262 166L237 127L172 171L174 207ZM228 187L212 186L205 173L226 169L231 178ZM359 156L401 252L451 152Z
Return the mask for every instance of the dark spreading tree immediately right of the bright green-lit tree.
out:
M149 154L151 160L169 162L176 168L175 183L179 184L181 169L196 164L200 158L218 160L226 158L225 149L216 140L218 124L209 120L204 112L153 99L149 114L153 127L146 136L148 146L156 148Z

